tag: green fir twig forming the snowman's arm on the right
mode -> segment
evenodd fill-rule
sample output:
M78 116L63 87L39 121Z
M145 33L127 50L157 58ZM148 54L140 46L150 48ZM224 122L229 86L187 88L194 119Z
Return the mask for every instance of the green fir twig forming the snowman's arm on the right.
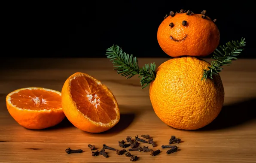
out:
M241 51L244 50L242 48L245 46L244 40L245 39L242 38L240 42L232 41L227 42L226 46L219 46L222 51L224 51L224 54L216 48L216 50L213 52L213 57L211 58L214 59L214 61L212 61L210 67L208 67L208 70L204 69L204 75L201 80L204 78L206 80L207 77L213 79L213 75L216 75L222 71L223 68L221 66L229 65L232 63L232 60L236 60L236 56L238 56Z

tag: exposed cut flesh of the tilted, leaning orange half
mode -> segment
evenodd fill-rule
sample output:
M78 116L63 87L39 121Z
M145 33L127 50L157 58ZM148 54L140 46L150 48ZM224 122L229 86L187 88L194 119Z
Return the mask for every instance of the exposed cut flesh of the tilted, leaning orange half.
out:
M73 78L70 85L76 108L91 121L107 124L116 119L112 95L102 85L87 76Z

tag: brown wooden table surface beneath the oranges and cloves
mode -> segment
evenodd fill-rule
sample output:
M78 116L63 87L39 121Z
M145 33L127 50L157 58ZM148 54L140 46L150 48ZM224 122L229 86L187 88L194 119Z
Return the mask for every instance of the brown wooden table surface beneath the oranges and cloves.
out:
M140 66L155 62L159 66L170 58L139 58ZM209 59L205 59L210 61ZM0 66L0 162L16 163L93 163L131 162L124 155L108 151L109 158L92 157L88 144L102 144L117 149L126 136L149 134L160 149L155 157L148 152L131 152L139 163L256 163L256 60L239 59L220 73L225 88L222 112L200 130L177 130L165 125L154 113L149 88L141 89L139 78L125 79L113 70L106 58L100 59L23 59L4 60ZM85 72L108 86L120 106L119 123L104 133L86 133L67 119L45 130L27 130L18 125L6 109L6 95L18 88L44 87L61 91L66 78ZM179 151L166 154L172 135L183 142ZM65 149L82 149L80 154L66 154Z

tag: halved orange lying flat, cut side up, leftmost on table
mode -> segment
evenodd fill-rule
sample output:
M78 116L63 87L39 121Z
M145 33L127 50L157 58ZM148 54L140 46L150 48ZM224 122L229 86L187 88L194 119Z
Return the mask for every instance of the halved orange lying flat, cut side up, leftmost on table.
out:
M61 93L52 89L17 89L6 96L6 106L12 118L27 129L52 127L65 118Z

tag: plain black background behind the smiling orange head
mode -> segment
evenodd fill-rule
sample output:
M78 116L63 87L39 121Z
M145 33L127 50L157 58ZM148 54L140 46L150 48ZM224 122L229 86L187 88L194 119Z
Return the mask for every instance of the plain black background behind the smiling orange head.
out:
M156 33L164 16L180 9L217 19L220 44L246 39L240 58L253 58L255 8L253 1L120 0L85 1L83 4L12 4L5 24L6 57L106 57L116 44L137 57L168 57ZM211 55L209 56L211 57Z

